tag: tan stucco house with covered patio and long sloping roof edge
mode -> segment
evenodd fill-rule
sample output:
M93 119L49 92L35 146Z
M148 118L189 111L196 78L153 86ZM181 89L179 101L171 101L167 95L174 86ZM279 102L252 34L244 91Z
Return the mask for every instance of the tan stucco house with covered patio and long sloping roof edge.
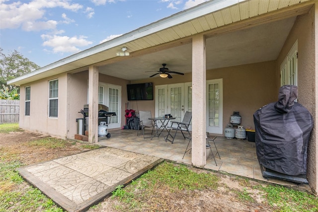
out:
M20 115L20 127L74 138L79 111L87 104L90 143L264 180L253 143L224 139L224 128L234 111L240 112L241 125L253 128L253 113L277 101L279 87L287 84L298 86L298 102L317 122L317 11L314 0L211 0L163 18L9 81L21 87L20 114L31 101L29 115ZM154 77L161 64L184 75ZM141 83L153 85L153 99L127 102L127 85ZM43 95L51 84L56 85L53 99ZM31 100L26 100L30 89ZM58 103L52 114L51 102ZM154 117L171 113L176 121L191 111L194 156L182 160L188 143L183 137L171 144L119 130L128 103L137 112L151 110ZM109 124L110 139L98 138L99 104L117 114ZM314 127L307 174L315 192L316 131ZM211 159L206 163L206 132L218 136L218 166Z

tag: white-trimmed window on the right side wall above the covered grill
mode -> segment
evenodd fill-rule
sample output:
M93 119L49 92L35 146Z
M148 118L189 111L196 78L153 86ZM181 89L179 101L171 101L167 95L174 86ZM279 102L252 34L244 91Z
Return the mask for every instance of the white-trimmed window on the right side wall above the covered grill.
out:
M280 65L280 85L297 86L298 75L298 41L287 54L283 63Z

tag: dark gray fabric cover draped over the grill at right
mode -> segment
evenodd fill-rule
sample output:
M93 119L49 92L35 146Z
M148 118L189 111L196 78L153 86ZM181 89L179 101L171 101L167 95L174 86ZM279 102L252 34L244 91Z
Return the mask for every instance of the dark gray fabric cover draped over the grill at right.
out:
M297 97L297 86L283 86L278 102L263 106L253 115L259 163L292 176L306 174L307 147L313 128L310 112L294 102Z

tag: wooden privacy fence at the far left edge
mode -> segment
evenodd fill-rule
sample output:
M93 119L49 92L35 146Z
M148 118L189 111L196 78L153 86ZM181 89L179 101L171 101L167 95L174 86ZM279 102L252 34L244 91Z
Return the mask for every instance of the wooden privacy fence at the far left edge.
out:
M0 100L0 123L19 122L19 100Z

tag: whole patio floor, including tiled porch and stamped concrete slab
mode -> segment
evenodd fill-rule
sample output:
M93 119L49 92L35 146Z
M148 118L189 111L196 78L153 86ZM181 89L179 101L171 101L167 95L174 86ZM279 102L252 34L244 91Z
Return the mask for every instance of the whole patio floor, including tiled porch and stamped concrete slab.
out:
M103 201L117 186L130 183L164 159L191 165L190 151L182 159L189 140L181 133L171 144L165 142L164 133L153 139L144 139L142 135L137 136L137 130L109 132L110 138L98 138L98 144L104 148L21 167L18 172L58 206L77 212ZM311 191L307 184L264 179L254 142L220 136L215 143L221 159L215 157L216 165L210 154L205 169ZM212 151L216 153L215 148Z

